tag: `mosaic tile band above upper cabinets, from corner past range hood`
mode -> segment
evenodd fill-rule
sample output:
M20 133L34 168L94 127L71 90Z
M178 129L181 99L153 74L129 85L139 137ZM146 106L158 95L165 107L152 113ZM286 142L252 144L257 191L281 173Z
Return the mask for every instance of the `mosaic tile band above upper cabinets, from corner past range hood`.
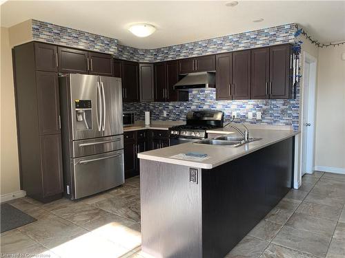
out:
M139 50L119 45L118 57L139 62L159 62L206 54L217 54L254 47L293 43L295 23L280 25L262 30L220 36L214 39L195 41L152 50Z

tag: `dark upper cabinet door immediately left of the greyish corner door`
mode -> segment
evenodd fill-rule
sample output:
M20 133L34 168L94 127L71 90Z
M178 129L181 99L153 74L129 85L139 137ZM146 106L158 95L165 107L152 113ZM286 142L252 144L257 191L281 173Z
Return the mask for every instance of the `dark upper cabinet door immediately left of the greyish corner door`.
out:
M124 100L127 102L139 101L139 68L138 64L130 61L122 63L122 88Z

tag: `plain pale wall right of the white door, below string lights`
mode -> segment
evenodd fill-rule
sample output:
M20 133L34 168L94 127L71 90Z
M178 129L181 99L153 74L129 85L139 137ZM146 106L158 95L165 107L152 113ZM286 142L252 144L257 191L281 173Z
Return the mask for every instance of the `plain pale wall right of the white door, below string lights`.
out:
M315 168L345 173L345 45L319 49Z

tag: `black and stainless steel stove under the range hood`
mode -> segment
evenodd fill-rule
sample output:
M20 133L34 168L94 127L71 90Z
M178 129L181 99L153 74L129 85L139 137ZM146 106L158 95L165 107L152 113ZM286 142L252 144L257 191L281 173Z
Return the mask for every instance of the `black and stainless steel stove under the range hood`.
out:
M205 139L207 138L206 130L223 127L223 124L223 111L188 111L186 125L169 128L170 146Z

